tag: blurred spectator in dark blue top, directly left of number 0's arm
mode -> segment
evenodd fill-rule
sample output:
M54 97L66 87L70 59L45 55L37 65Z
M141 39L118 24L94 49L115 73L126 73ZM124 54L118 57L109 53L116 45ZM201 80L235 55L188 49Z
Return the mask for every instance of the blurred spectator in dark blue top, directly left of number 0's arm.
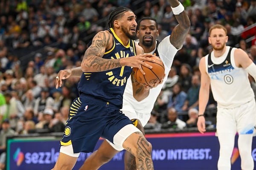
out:
M192 108L198 109L200 77L198 75L193 75L191 79L191 84L192 86L187 92L187 97L182 107L183 111L189 111Z

